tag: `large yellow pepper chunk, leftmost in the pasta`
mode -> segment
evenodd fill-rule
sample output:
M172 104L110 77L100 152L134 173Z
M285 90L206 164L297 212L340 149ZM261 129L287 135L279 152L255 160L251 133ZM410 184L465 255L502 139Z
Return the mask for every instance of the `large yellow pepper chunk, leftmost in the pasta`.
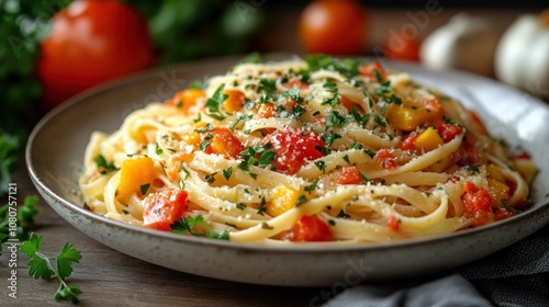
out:
M155 163L152 158L138 156L124 160L120 169L116 198L122 203L127 203L134 193L143 196L142 185L152 184L155 179Z

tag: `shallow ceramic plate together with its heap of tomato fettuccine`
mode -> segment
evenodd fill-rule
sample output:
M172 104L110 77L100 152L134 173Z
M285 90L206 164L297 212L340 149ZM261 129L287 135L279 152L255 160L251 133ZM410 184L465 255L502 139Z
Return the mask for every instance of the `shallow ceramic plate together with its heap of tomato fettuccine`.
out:
M463 72L224 58L72 99L26 161L61 217L123 253L328 286L455 268L545 226L548 121L544 102Z

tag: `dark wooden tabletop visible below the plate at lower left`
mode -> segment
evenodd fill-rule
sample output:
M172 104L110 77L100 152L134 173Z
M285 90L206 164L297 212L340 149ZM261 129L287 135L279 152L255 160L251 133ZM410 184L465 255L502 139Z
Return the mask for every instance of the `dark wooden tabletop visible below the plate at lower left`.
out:
M37 195L24 164L14 182L20 201ZM67 283L80 287L80 306L310 306L329 288L260 286L225 282L165 269L108 248L80 232L59 217L43 200L34 231L42 235L41 250L57 254L66 241L81 250L80 263L74 265ZM29 276L26 255L19 253L16 298L9 296L10 252L0 257L0 306L67 306L56 303L57 281Z

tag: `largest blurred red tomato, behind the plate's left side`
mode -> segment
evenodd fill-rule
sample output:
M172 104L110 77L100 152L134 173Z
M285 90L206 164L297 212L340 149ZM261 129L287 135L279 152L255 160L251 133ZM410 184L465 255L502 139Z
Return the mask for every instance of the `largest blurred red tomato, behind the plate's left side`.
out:
M37 73L45 109L154 62L145 20L120 1L77 0L52 20Z

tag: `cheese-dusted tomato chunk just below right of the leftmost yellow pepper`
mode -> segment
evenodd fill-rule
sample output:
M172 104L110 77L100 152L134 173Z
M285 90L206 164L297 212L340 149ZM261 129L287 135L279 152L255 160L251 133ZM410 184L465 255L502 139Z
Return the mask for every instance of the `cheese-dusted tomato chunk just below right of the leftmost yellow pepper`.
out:
M170 225L181 217L187 208L187 191L166 189L150 193L143 200L143 225L169 231Z

